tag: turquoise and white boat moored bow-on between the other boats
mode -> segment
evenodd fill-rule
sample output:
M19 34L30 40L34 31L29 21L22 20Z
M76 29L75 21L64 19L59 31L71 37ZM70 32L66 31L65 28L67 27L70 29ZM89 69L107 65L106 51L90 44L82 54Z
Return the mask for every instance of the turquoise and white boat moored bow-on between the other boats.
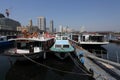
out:
M56 35L55 43L50 48L54 54L60 59L65 59L68 54L74 52L74 47L69 43L68 36L66 35Z

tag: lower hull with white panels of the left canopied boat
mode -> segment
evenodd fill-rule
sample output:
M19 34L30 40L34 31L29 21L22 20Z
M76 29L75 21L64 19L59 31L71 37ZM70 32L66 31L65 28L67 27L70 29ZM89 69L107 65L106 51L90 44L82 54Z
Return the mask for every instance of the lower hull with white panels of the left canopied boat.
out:
M31 59L36 59L36 58L40 58L43 57L43 51L42 50L36 50L33 53L30 53L29 50L14 50L14 49L10 49L6 52L4 52L6 56L10 56L11 58L15 58L16 60L19 61L23 61L23 60L27 60L26 57L29 57Z

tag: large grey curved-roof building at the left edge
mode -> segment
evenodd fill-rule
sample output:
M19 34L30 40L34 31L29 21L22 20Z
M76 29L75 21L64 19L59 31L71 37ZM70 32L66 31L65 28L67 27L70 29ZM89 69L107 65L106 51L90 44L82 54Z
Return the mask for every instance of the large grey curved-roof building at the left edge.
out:
M6 18L3 14L0 14L0 35L18 34L17 26L21 26L18 21Z

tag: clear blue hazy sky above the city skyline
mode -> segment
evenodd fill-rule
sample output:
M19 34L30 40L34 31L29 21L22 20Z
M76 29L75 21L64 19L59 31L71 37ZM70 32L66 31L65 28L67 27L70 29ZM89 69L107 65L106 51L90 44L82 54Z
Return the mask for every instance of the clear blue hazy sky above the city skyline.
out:
M0 0L0 13L10 10L10 18L27 25L37 25L37 17L44 16L49 27L69 26L87 31L120 31L120 0Z

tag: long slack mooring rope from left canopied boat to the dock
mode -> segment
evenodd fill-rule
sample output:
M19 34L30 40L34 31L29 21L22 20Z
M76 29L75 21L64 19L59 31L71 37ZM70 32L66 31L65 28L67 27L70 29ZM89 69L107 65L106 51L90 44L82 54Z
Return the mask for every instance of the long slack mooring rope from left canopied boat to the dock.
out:
M80 74L80 73L75 73L75 72L70 72L70 71L65 71L65 70L60 70L60 69L57 69L57 68L53 68L53 67L50 67L50 66L41 64L41 63L39 63L39 62L37 62L37 61L35 61L35 60L27 57L27 56L24 55L24 54L23 54L23 56L24 56L26 59L30 60L31 62L33 62L33 63L35 63L35 64L38 64L38 65L40 65L40 66L43 66L43 67L45 67L45 68L48 68L48 69L50 69L50 70L54 70L54 71L58 71L58 72L62 72L62 73L68 73L68 74L88 75L88 76L91 76L91 74L88 74L88 73L87 73L87 74Z

